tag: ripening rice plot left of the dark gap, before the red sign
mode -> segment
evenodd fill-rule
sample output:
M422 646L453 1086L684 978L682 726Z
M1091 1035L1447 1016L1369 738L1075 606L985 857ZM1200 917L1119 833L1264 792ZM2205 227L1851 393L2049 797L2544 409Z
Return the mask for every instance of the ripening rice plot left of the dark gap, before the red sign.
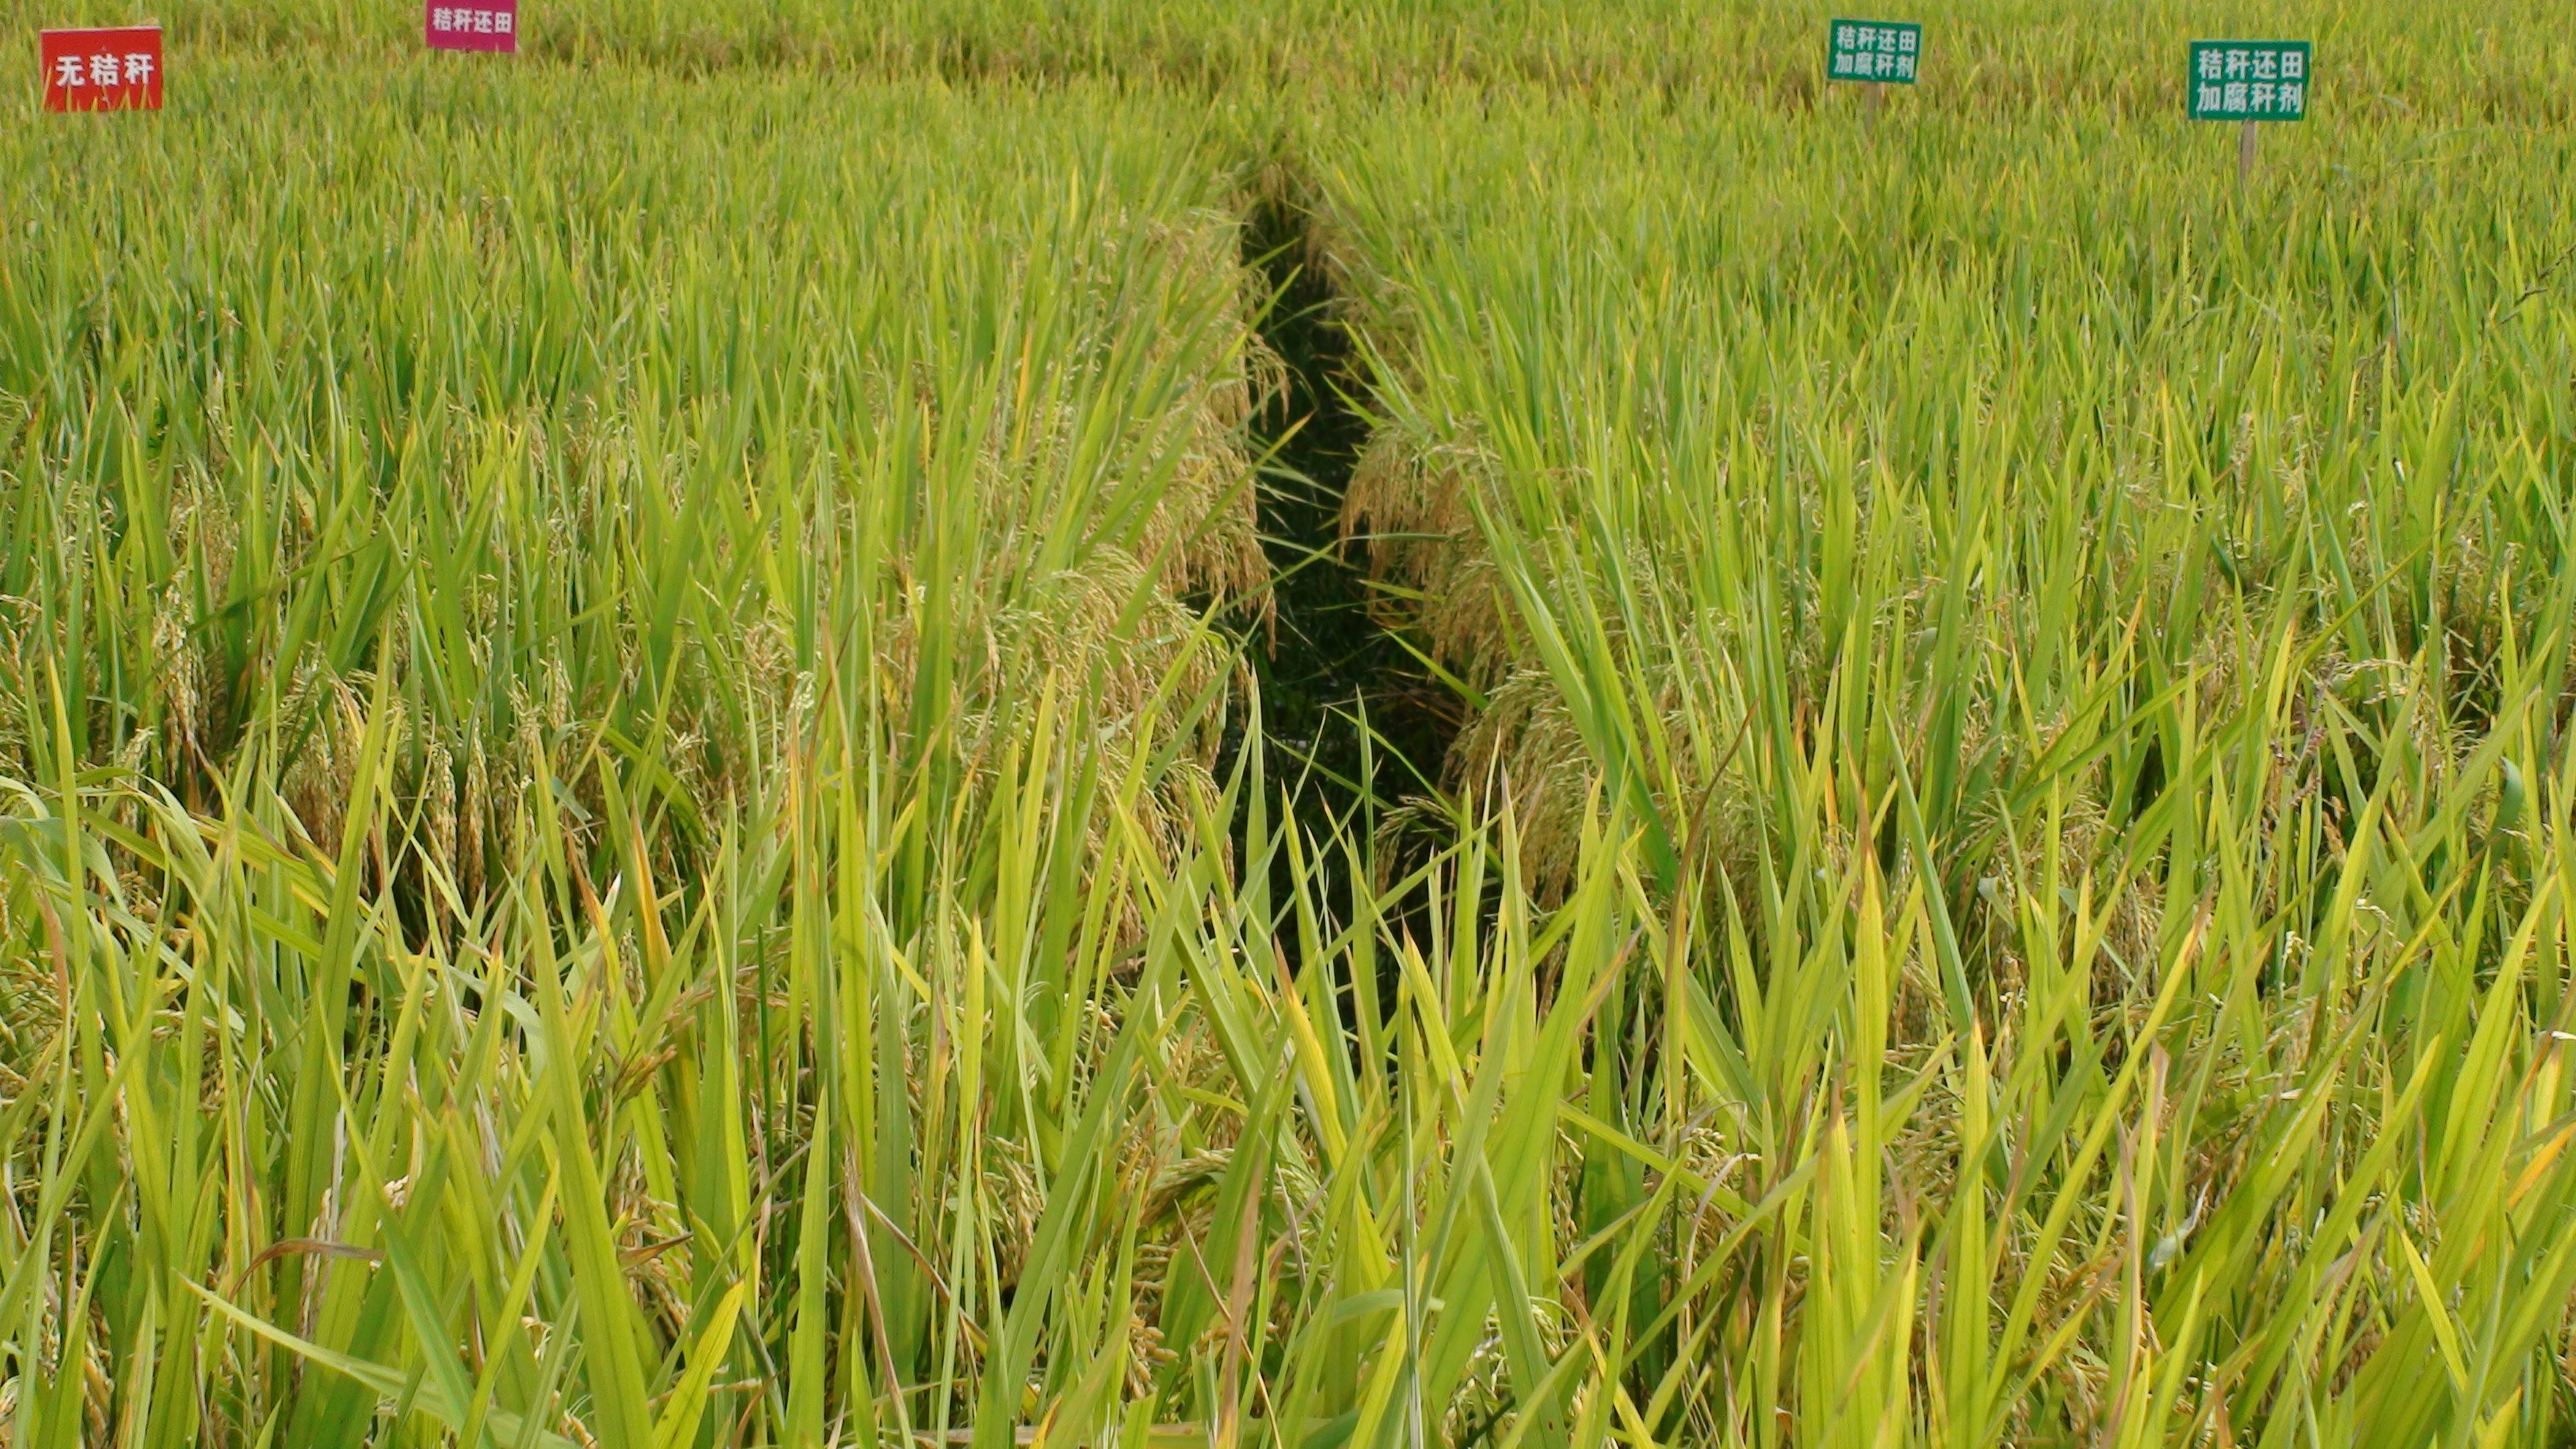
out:
M234 95L106 155L8 142L15 1423L345 1441L407 1343L443 1354L412 1436L693 1439L719 1387L716 1421L809 1423L824 1374L739 1397L781 1379L732 1325L778 1307L768 1209L858 1171L814 1145L876 1132L878 1341L971 1385L969 1248L1043 1181L1090 998L994 1039L994 1080L1056 1065L1038 1098L976 1052L958 1091L961 1024L889 998L848 1111L894 1116L835 1129L809 1049L840 1062L842 1018L773 949L832 895L783 884L778 828L871 882L801 949L873 938L920 990L933 938L1010 951L1018 1003L1041 946L1100 972L1136 936L1121 871L1213 807L1211 616L1262 567L1221 170L1118 103L721 85L641 129L649 90L598 75ZM948 1147L909 1160L907 1122ZM809 1359L819 1271L788 1279ZM840 1361L835 1421L876 1374Z

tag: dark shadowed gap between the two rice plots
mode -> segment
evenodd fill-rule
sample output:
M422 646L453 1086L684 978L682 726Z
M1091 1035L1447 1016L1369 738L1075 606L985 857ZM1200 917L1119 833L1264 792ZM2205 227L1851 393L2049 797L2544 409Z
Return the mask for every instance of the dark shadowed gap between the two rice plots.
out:
M1311 843L1329 846L1337 828L1365 843L1391 807L1437 786L1461 704L1370 608L1365 547L1342 539L1342 492L1368 443L1368 420L1350 400L1365 379L1293 199L1270 191L1252 204L1244 263L1270 281L1275 299L1262 340L1288 366L1285 397L1252 423L1252 443L1270 459L1260 523L1275 624L1252 650L1270 804L1293 784L1293 820ZM1401 841L1378 838L1378 846L1401 853ZM1352 882L1342 851L1327 848L1316 864L1321 905L1347 920ZM1388 871L1381 866L1381 874ZM1280 908L1291 884L1285 853L1273 859L1270 879ZM1296 962L1293 928L1280 944Z

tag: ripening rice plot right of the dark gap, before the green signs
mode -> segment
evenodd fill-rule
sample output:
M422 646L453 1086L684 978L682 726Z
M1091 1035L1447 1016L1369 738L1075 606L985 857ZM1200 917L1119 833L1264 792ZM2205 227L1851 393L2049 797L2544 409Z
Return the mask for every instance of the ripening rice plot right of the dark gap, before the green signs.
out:
M1615 804L1705 941L1584 1111L1814 1212L1664 1220L1759 1250L1636 1305L1633 1431L2555 1441L2566 144L1860 124L1391 108L1319 183L1453 779L1551 900Z

